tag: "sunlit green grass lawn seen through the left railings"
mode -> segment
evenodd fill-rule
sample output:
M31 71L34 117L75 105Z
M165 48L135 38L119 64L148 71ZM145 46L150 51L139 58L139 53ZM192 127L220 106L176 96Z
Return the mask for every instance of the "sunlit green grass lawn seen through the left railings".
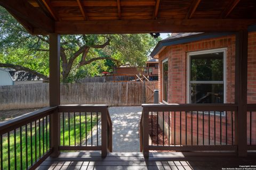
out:
M64 139L65 139L65 146L69 145L69 131L68 131L68 125L70 129L70 146L80 145L80 116L79 113L75 114L70 113L70 121L68 121L68 113L65 113L65 119L64 119ZM85 118L86 117L86 118ZM99 114L99 120L100 120L100 114ZM86 124L85 126L85 119ZM8 147L8 135L3 135L3 169L8 169L8 159L10 157L10 169L15 169L15 165L17 166L17 169L26 169L26 167L31 166L31 162L35 163L36 160L40 158L40 155L43 156L45 152L47 152L46 149L50 148L50 133L49 133L49 120L47 120L47 128L46 128L46 117L44 117L44 128L43 123L40 122L40 130L39 130L39 121L37 120L37 126L35 128L35 122L32 124L32 135L30 134L30 124L27 125L27 141L26 141L26 127L22 126L22 134L20 135L20 129L16 130L16 137L14 137L14 131L10 132L10 147ZM74 124L75 120L75 124ZM63 146L63 120L62 120L62 114L61 114L61 120L60 120L60 126L61 126L61 146ZM92 115L87 114L85 116L85 113L81 113L81 141L82 143L85 141L85 134L87 135L91 132L91 128L97 124L97 116L96 114ZM47 129L47 135L46 135L46 129ZM39 135L40 131L40 135ZM44 136L43 136L44 131ZM75 135L76 134L76 135ZM39 140L39 138L41 140ZM20 140L21 139L21 140ZM32 140L31 140L32 139ZM16 143L14 145L14 142ZM26 148L26 142L27 142L27 148ZM41 145L39 145L41 143ZM43 145L44 143L44 145ZM14 147L16 146L16 147ZM8 148L10 148L10 156L8 156ZM16 150L16 157L14 155L14 152ZM27 154L26 154L27 150ZM31 152L32 150L32 152ZM41 154L39 152L41 151ZM32 157L31 157L32 156ZM32 160L31 160L32 158ZM26 165L26 162L28 162L28 165ZM22 165L22 168L21 168ZM1 165L0 165L1 166Z

